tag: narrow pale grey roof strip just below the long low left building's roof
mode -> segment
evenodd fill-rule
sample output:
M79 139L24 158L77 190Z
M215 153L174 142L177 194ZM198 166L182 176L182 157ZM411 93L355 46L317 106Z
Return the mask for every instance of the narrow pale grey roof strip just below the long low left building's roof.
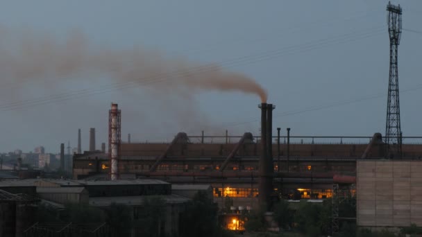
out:
M142 206L145 198L162 198L166 204L182 204L189 202L189 198L184 198L179 195L151 195L151 196L124 196L124 197L96 197L90 198L90 206L93 207L108 207L110 204L126 204L129 206Z

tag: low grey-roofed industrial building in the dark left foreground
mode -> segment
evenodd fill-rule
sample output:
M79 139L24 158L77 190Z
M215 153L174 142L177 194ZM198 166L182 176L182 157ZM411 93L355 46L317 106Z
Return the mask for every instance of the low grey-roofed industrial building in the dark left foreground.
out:
M146 198L160 198L164 201L164 213L166 213L161 222L161 231L166 235L172 236L174 234L177 236L177 233L179 233L178 221L180 213L185 211L191 200L186 198L188 194L183 193L183 190L193 191L194 188L182 188L181 192L179 192L185 195L182 196L171 192L171 184L155 179L116 181L22 179L14 182L0 182L0 192L25 193L26 196L36 197L42 203L47 203L50 207L55 207L56 209L65 209L65 204L69 203L89 204L99 209L108 209L113 203L125 204L130 208L133 220L137 220L137 213L142 213ZM201 189L199 188L198 190ZM194 192L189 193L189 195L191 194L194 194ZM6 212L3 213L3 216L6 214ZM3 221L0 225L6 225L5 223L9 221L4 218L0 220ZM137 228L141 227L134 227L133 233L135 236Z

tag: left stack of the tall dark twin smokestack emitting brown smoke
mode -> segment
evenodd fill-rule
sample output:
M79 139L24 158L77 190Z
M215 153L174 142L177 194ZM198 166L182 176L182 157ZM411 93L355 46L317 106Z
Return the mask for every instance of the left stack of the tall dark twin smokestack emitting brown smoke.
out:
M258 182L258 201L260 204L269 204L269 182L272 182L272 177L268 177L268 161L267 161L267 103L259 105L261 108L261 157L259 161L259 175Z

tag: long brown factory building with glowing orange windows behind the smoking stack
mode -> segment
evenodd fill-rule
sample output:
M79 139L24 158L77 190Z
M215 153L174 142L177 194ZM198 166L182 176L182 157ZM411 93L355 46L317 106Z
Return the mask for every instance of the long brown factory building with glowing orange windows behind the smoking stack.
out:
M237 148L239 143L210 143L207 137L198 139L186 135L180 139L180 136L176 136L176 142L167 144L121 143L120 176L162 179L180 185L210 185L214 201L220 205L226 196L233 198L236 206L255 206L258 203L260 137L252 137ZM228 140L241 138L230 137ZM282 137L280 146L272 144L275 151L273 188L282 198L330 198L332 184L343 182L340 177L355 177L358 160L380 159L383 156L382 143L376 143L377 139L373 137L361 138L367 143L346 143L346 139L341 143L341 138L337 138L337 144L301 143L295 138L299 142L287 144ZM278 137L275 139L277 141ZM192 142L198 140L201 142ZM403 153L418 159L422 155L422 146L403 144ZM155 170L151 171L151 168ZM110 157L107 154L85 152L74 155L74 179L108 179L108 175Z

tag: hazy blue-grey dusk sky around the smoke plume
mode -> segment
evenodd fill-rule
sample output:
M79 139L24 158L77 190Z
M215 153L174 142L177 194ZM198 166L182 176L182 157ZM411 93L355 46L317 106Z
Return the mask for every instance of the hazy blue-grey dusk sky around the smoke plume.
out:
M89 42L87 51L148 52L141 69L155 63L164 71L169 64L187 69L217 64L255 80L276 105L274 134L277 127L282 135L291 128L294 136L385 133L388 1L2 3L0 35L9 40L6 48L13 45L8 48L12 53L20 50L21 45L14 44L19 37L31 41L47 35L48 43L60 45L76 32ZM401 129L404 137L422 136L422 1L392 3L402 6L405 29L398 48ZM42 64L44 58L35 53L27 60ZM167 142L180 131L258 135L260 130L260 98L253 94L180 89L167 79L126 85L106 73L108 69L22 81L4 71L7 68L0 71L1 152L27 152L42 145L55 153L68 141L75 147L78 128L83 150L88 148L90 128L96 128L96 148L101 148L101 142L108 141L112 102L121 109L123 141L128 133L133 142Z

